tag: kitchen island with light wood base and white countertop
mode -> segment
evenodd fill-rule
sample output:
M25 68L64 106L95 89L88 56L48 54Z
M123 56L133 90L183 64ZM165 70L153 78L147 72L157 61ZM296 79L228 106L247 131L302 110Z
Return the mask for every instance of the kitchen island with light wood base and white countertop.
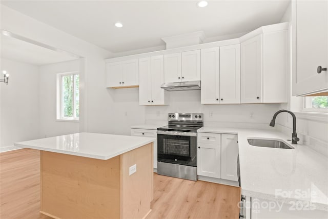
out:
M75 133L15 143L40 150L41 209L53 218L143 218L154 138Z

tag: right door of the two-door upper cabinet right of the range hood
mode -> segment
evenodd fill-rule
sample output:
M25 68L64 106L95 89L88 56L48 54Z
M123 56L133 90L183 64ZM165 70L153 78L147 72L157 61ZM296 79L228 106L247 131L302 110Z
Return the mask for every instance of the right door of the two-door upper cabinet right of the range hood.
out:
M240 104L240 45L220 47L220 104Z

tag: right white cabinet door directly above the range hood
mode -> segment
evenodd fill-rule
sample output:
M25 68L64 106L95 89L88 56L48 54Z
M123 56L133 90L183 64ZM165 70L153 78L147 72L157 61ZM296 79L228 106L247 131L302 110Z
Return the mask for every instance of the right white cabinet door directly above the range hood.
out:
M182 82L200 80L200 49L181 53Z

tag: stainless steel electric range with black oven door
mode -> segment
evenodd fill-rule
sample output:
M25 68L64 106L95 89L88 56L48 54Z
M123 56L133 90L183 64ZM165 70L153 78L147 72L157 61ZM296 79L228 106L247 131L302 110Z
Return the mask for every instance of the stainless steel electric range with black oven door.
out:
M197 129L202 113L169 113L169 125L157 128L157 173L197 180Z

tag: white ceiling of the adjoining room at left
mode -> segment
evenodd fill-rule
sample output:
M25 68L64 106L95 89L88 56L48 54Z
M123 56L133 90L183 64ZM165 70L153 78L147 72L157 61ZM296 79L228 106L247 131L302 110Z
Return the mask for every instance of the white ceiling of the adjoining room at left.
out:
M56 52L20 39L1 35L1 57L32 65L46 65L76 59L65 53Z

